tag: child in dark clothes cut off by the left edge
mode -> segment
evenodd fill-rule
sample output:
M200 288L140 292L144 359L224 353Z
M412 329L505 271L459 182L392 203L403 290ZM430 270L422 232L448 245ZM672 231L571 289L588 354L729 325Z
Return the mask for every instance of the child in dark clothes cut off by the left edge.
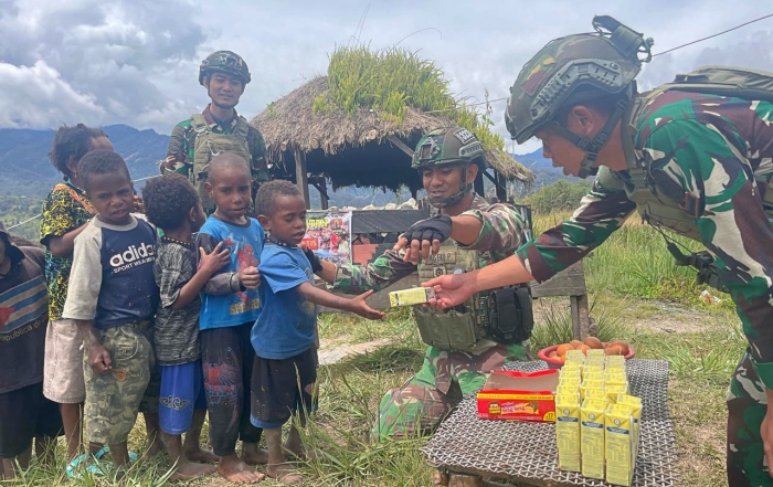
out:
M18 247L0 223L0 479L25 469L35 438L38 458L51 459L62 422L43 396L43 347L49 296L43 252Z

